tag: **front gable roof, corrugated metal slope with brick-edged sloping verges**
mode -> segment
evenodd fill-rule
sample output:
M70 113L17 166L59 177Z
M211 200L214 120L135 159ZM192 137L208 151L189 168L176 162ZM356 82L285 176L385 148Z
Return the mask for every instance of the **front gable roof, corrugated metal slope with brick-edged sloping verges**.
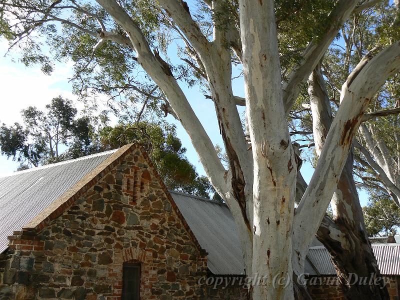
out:
M7 237L14 231L39 231L136 149L140 150L195 246L204 254L147 154L137 143L0 177L0 215L4 216L0 219L0 253L8 247Z

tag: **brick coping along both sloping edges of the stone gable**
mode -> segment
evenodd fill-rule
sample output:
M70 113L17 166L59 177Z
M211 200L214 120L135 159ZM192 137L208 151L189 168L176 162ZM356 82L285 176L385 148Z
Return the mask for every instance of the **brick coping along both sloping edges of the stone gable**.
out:
M140 150L141 154L143 155L145 161L151 168L155 178L157 179L158 183L160 184L162 190L164 191L167 199L171 203L175 213L178 215L182 224L188 234L190 235L192 241L196 245L198 251L200 252L200 256L205 257L207 252L201 248L200 244L198 243L196 237L194 236L193 232L191 231L189 225L187 224L186 220L184 219L183 215L179 211L175 201L173 200L172 196L170 195L167 187L165 186L164 182L162 182L161 177L159 176L158 172L154 168L154 165L150 161L147 153L138 143L127 144L120 147L117 151L112 153L107 159L105 159L102 163L100 163L96 168L94 168L90 173L86 174L82 179L80 179L75 185L65 191L61 196L59 196L56 200L51 202L44 210L42 210L38 215L36 215L29 223L27 223L23 228L22 231L15 231L21 233L22 235L26 235L29 231L39 232L42 228L48 225L52 220L60 216L69 206L71 206L79 197L84 195L84 193L90 189L96 182L98 182L106 173L111 171L117 164L123 160L123 158L127 155L132 153L134 150ZM14 232L14 234L15 234ZM13 235L14 235L13 234ZM31 236L32 233L29 232L27 235ZM10 240L13 239L12 236L8 237Z

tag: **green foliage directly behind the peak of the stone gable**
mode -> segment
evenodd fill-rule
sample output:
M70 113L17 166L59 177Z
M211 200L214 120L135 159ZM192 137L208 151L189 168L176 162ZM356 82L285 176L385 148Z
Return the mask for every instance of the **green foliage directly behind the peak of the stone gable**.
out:
M195 167L184 156L176 136L175 128L165 124L140 121L138 123L119 123L105 126L98 132L102 150L118 148L131 142L139 142L148 153L165 185L170 189L209 197L215 193L205 176L199 176Z

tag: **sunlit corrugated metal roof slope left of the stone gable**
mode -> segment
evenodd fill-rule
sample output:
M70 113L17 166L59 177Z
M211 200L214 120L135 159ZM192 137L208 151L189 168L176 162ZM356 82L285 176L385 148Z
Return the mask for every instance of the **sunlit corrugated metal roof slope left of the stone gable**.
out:
M8 235L20 230L115 151L48 164L0 177L0 253L8 246Z

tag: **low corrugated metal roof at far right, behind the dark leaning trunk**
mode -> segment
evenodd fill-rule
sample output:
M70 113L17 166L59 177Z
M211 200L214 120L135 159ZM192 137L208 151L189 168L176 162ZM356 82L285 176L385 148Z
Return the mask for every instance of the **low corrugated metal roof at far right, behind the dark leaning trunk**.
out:
M400 275L400 244L371 244L379 270L382 275ZM308 258L322 275L334 275L336 271L330 261L328 250L324 246L312 246ZM311 273L312 274L312 273Z

